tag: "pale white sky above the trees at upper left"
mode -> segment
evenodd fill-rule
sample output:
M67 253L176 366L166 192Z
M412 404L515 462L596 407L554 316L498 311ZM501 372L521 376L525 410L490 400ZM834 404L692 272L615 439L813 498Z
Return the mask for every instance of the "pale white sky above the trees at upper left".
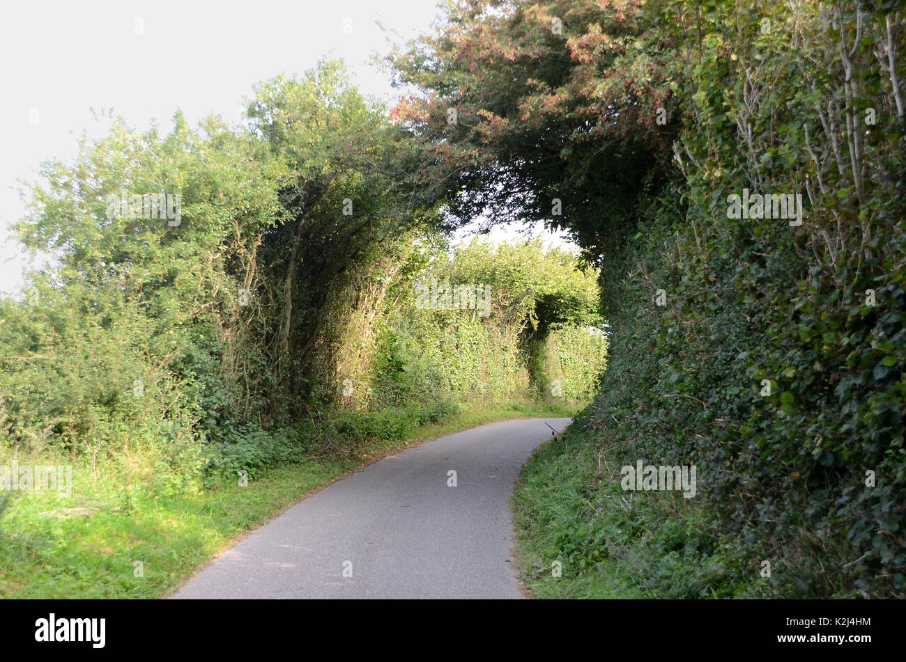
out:
M27 264L7 241L7 225L24 210L15 180L33 181L41 162L75 156L83 130L98 135L105 125L90 109L112 108L138 129L152 118L169 129L178 108L191 125L211 113L234 120L255 82L301 73L325 55L345 59L365 93L391 98L388 77L369 62L387 50L375 21L410 38L437 14L435 0L4 2L0 292L21 286ZM346 19L352 34L343 33Z

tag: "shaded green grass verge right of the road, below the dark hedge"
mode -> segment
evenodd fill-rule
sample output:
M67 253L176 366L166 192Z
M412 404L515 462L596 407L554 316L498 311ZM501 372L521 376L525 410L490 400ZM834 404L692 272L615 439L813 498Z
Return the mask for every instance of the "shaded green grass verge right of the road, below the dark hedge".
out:
M708 534L690 500L624 492L619 470L629 463L583 430L535 451L512 500L529 590L554 599L763 597L757 566Z

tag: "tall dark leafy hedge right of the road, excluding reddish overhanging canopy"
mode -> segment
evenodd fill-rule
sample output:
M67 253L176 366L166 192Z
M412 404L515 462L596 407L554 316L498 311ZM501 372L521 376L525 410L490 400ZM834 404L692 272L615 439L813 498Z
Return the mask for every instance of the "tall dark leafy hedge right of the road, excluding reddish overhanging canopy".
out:
M545 594L904 595L902 16L793 6L661 7L696 27L682 176L612 235L609 370L520 489ZM733 218L744 188L803 222ZM638 459L697 465L699 496L622 492Z

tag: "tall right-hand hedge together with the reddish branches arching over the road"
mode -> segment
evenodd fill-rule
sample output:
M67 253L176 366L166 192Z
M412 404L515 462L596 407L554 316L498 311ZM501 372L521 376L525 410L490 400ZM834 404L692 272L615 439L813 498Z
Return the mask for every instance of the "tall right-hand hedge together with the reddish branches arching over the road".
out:
M574 424L582 433L529 469L541 503L522 499L526 544L545 556L539 567L549 573L558 557L572 564L554 594L903 596L899 5L661 0L580 4L571 15L564 5L464 3L437 37L398 57L401 80L422 93L400 113L436 140L442 133L446 150L477 154L449 156L465 173L457 184L482 192L454 206L489 201L503 215L544 217L532 203L514 212L509 191L562 198L562 222L602 267L608 371ZM567 20L577 14L583 19ZM551 15L564 17L559 44L539 18ZM625 31L633 43L620 40ZM604 71L583 66L584 43ZM601 77L647 71L654 53L668 64L652 88L669 87L678 110L662 129L665 143L678 138L673 150L620 135L645 135L639 111L655 91L640 101L630 85L605 95L603 109L586 93L613 90ZM615 57L625 69L608 69ZM547 67L560 78L545 80ZM528 83L536 69L537 92ZM445 132L447 105L475 117ZM544 129L532 126L548 116ZM584 138L599 127L602 137L587 143L607 158L590 171L598 179L577 176L589 164L582 152L570 163L539 157L548 135L563 155L566 132ZM676 169L662 169L674 156ZM622 176L631 184L613 194ZM802 223L731 213L728 196L744 189L801 194ZM612 475L597 487L598 458L605 467L695 464L700 498L687 513L650 496L624 523L616 499L602 500ZM677 525L695 527L705 551L678 558ZM611 540L606 556L602 536ZM648 583L620 579L607 560L614 554L647 568ZM772 563L769 579L758 572L762 560Z

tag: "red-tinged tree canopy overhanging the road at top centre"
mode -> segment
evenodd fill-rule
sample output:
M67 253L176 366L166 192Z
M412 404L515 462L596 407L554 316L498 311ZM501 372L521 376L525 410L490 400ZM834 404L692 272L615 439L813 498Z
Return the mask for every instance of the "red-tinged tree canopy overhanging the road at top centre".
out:
M636 2L446 5L446 24L389 57L418 92L392 117L421 141L419 193L459 222L552 222L598 259L669 165L679 61L660 17Z

